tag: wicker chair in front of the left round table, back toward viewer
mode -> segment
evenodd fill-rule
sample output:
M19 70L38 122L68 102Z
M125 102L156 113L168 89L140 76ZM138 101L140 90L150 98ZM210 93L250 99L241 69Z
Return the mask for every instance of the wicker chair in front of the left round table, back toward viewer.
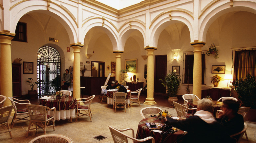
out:
M56 108L53 107L52 109L46 106L42 106L42 105L26 105L29 111L29 128L28 128L28 132L27 132L27 137L29 135L29 131L30 130L37 130L37 127L41 128L44 130L44 135L46 134L46 128L47 125L49 124L49 122L52 122L53 125L53 131L55 131L55 125L54 125L54 121L55 121L55 111ZM53 110L53 116L47 115L48 111ZM44 124L43 124L44 122ZM38 123L41 123L42 126L38 125ZM35 128L31 127L33 126L33 124L35 124Z

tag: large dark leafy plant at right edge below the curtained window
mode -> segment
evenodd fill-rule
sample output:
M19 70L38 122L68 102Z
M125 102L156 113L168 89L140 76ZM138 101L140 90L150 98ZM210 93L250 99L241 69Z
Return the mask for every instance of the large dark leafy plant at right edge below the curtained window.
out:
M246 118L256 121L256 77L247 74L244 78L232 82L238 99L242 101L242 106L251 107Z

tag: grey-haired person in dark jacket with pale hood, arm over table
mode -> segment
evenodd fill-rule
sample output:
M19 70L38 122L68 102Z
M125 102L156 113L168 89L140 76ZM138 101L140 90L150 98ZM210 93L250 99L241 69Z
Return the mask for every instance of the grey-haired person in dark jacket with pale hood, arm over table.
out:
M223 132L223 126L214 119L212 111L213 103L202 99L198 102L194 116L179 121L168 117L166 119L173 127L187 132L178 142L232 142L229 135Z

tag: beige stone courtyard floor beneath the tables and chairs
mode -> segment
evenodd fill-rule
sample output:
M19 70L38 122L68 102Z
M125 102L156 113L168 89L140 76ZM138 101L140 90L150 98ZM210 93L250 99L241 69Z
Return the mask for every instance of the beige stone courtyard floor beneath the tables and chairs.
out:
M85 96L84 96L85 97ZM95 99L97 99L96 96ZM160 101L163 99L159 99L158 104L156 106L160 106ZM96 102L95 100L94 102ZM165 100L166 101L166 100ZM98 102L98 101L97 101ZM113 105L109 105L104 103L93 103L91 105L93 118L92 122L90 122L90 118L83 116L74 122L75 118L73 118L73 122L70 123L68 119L55 121L55 131L53 131L52 127L47 128L46 134L62 134L69 136L74 143L113 143L112 136L110 134L108 125L116 127L118 129L125 128L133 128L135 130L135 134L137 132L138 123L142 119L140 116L139 110L148 105L141 104L133 104L130 108L126 109L126 113L124 109L118 108L116 113L114 113ZM163 101L164 102L164 101ZM34 104L39 104L38 101L33 101ZM143 103L143 99L141 99L141 103ZM165 103L162 103L165 104ZM176 116L176 111L174 108L169 108L167 105L165 107L160 106L163 110L168 110L173 116ZM11 122L11 119L9 120ZM37 132L35 130L30 131L29 137L26 137L27 129L29 122L27 121L18 121L11 129L11 133L13 138L10 138L8 133L4 133L0 135L0 142L2 143L28 143L34 137L43 135L43 130L38 129ZM248 128L246 130L249 141L246 141L245 135L243 136L243 143L256 143L256 124L246 122ZM4 131L3 127L0 127L0 132ZM125 132L127 135L131 135L130 132ZM97 135L106 136L106 139L98 141L93 137Z

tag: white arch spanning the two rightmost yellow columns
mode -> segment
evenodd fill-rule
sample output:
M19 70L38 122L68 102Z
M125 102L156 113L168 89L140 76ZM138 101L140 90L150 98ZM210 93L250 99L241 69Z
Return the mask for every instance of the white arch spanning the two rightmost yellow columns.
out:
M153 47L157 47L160 33L163 31L165 27L174 23L185 24L189 29L190 41L193 42L194 41L193 40L194 32L193 32L193 26L192 26L193 21L194 20L192 17L182 12L172 12L172 20L170 20L168 13L162 15L158 18L158 20L154 24L152 24L152 27L150 29L151 30L150 39L149 39L149 43L147 44L150 46L152 45Z

